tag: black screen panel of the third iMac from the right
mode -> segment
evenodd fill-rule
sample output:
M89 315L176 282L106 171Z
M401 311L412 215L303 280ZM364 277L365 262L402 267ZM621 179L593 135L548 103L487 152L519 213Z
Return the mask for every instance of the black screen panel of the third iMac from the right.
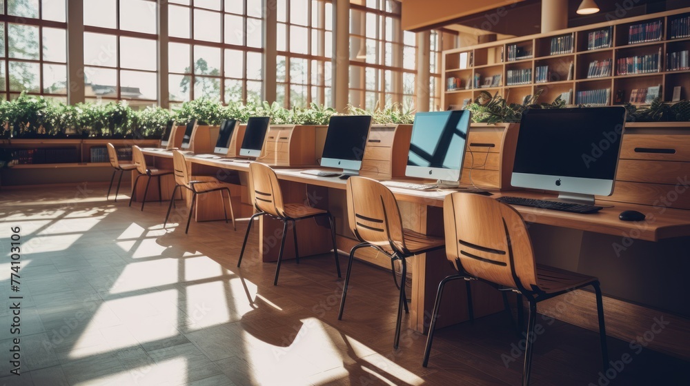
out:
M362 161L366 136L371 126L368 115L334 115L328 122L324 158Z

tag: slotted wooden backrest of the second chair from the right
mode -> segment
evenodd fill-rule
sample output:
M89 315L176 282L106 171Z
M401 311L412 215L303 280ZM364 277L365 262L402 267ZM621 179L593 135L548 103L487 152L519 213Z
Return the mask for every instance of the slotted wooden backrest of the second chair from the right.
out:
M346 185L350 230L361 241L408 254L400 209L393 192L378 181L350 177Z

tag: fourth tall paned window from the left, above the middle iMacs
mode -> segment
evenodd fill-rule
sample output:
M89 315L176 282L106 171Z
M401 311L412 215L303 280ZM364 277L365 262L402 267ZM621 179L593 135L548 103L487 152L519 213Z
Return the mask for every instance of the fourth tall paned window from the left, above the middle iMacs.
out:
M286 108L332 105L333 5L279 0L277 19L276 101Z

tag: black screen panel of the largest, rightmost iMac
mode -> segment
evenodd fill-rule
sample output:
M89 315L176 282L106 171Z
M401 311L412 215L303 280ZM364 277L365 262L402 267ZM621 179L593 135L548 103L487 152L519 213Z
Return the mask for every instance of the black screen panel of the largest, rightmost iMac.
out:
M527 110L513 172L611 180L624 122L622 107Z

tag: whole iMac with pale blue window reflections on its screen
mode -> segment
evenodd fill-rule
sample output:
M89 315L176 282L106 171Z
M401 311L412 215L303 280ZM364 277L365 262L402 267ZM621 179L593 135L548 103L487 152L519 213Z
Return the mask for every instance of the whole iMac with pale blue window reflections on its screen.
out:
M417 112L405 175L435 179L439 186L457 186L469 126L469 110Z

